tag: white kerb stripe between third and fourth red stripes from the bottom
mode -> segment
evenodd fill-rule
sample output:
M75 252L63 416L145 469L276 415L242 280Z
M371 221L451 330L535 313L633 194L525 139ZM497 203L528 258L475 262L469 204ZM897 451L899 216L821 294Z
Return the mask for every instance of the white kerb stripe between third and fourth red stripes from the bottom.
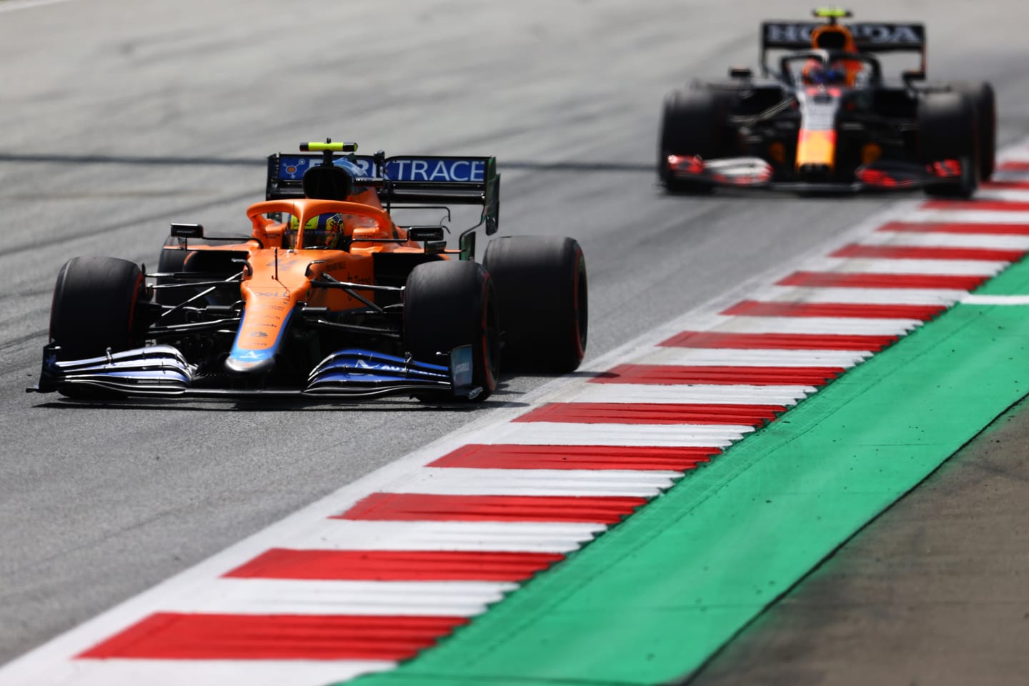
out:
M425 467L386 486L433 496L616 496L652 498L681 473L622 469L462 469Z

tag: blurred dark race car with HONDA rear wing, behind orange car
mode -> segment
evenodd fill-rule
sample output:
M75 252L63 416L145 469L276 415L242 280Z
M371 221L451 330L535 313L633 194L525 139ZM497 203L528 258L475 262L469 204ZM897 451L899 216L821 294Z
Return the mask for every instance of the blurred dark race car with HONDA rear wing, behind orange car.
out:
M760 77L735 67L725 81L666 97L658 170L669 190L924 188L967 196L990 178L989 83L927 82L922 24L814 13L823 21L761 24ZM898 52L916 52L921 64L890 81L880 56Z

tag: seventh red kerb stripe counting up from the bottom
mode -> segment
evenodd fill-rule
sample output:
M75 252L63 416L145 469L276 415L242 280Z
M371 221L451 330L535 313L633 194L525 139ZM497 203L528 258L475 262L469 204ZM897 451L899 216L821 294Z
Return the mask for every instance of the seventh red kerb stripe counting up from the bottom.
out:
M662 342L667 348L728 348L734 350L882 350L897 336L841 333L723 333L681 331Z

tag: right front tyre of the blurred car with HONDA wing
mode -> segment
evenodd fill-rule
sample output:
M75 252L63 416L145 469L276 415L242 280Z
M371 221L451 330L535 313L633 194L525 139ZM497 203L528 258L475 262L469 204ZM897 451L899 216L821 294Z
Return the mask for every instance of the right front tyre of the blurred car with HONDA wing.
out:
M932 164L942 159L961 160L960 183L938 183L925 187L933 197L968 197L979 187L979 127L975 107L964 94L929 93L918 107L919 155Z

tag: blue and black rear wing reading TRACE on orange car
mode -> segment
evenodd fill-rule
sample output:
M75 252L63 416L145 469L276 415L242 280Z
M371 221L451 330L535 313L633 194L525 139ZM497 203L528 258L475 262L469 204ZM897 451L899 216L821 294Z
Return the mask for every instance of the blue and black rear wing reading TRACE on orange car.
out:
M340 157L341 159L344 157ZM362 176L357 185L379 188L387 212L393 205L481 205L487 233L500 215L500 175L496 157L347 155ZM319 153L276 153L268 158L267 200L304 197L301 180L322 164Z

